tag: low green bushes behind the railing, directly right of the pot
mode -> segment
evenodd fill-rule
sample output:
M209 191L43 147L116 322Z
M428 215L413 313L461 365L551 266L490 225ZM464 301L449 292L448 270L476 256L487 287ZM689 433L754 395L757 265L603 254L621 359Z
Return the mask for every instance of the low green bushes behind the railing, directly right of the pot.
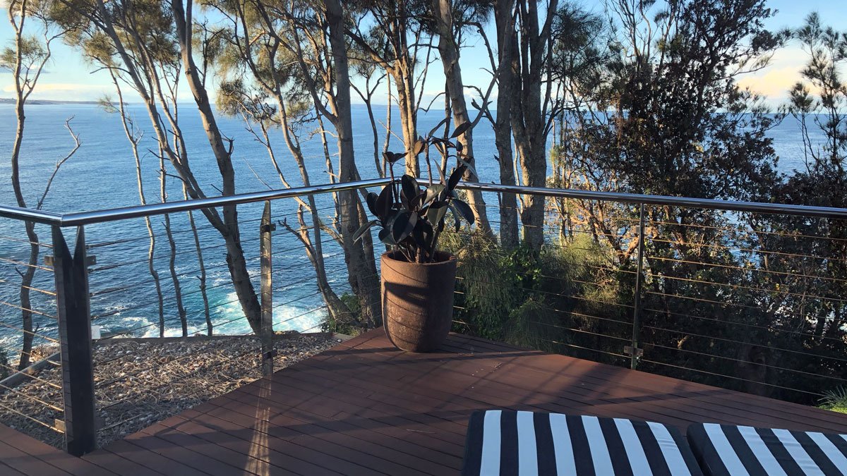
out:
M450 232L444 243L459 258L454 330L593 360L603 354L585 348L620 351L598 335L623 337L628 329L590 316L625 319L613 305L626 297L625 281L607 265L611 252L590 237L548 244L540 254L524 245L503 250L481 232Z

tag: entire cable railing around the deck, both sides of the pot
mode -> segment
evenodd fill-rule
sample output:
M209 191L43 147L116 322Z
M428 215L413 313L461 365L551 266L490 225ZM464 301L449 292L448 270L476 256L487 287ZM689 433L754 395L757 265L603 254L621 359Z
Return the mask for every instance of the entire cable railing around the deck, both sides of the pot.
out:
M168 416L159 401L191 407L208 399L199 385L185 384L191 379L228 391L272 372L285 345L280 333L335 329L327 289L338 294L333 299L353 294L338 208L329 196L318 200L317 224L311 211L297 209L297 198L388 183L80 213L0 206L0 217L20 230L34 223L39 237L30 241L12 227L0 235L12 250L0 253L0 337L8 350L0 374L12 376L0 379L0 422L82 454ZM847 384L847 210L457 188L482 193L491 230L465 226L445 235L459 258L454 330L810 404ZM525 212L501 208L504 194L518 194L518 204L521 196L548 197L543 224L518 221L523 233L542 233L540 249L499 240L501 211L518 220ZM193 222L187 216L226 206L239 207L242 278L253 285L258 322L248 322L249 303L233 285L232 244L202 213ZM700 221L690 221L693 212ZM67 234L73 246L67 229L75 231ZM378 266L384 246L372 233ZM323 285L311 263L318 249ZM32 279L22 285L27 272ZM378 293L378 273L368 274L372 289L357 291ZM166 340L180 342L178 350L144 353ZM21 359L32 368L19 372ZM66 423L69 411L75 418Z

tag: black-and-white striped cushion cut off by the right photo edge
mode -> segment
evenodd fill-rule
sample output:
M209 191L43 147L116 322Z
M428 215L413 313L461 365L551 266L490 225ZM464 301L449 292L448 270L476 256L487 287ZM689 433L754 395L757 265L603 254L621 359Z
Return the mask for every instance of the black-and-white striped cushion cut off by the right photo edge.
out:
M847 475L847 434L705 423L688 430L706 474Z

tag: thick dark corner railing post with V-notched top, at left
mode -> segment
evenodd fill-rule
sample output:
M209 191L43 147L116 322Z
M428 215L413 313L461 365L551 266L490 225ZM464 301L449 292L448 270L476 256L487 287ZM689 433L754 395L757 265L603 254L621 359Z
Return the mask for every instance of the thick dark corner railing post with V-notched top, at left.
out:
M82 456L97 446L94 367L91 356L91 302L88 294L86 234L77 228L71 256L62 229L53 226L58 335L62 356L62 393L67 451Z

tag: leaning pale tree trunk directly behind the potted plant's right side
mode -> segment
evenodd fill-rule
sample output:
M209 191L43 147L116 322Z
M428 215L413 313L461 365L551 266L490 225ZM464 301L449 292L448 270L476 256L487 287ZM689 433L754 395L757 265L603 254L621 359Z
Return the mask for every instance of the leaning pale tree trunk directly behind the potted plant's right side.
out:
M456 42L456 32L453 25L451 0L432 0L432 9L438 26L438 51L441 56L441 64L444 66L446 94L450 98L453 124L458 126L471 122L471 119L468 117L468 105L465 103L462 68L459 66L459 46ZM474 165L473 128L459 136L458 141L462 144L462 153L465 154L465 160ZM468 169L462 178L468 181L479 180L479 177L471 169ZM468 191L468 205L473 209L479 229L483 230L486 235L493 236L491 225L488 223L488 213L485 209L482 192Z

